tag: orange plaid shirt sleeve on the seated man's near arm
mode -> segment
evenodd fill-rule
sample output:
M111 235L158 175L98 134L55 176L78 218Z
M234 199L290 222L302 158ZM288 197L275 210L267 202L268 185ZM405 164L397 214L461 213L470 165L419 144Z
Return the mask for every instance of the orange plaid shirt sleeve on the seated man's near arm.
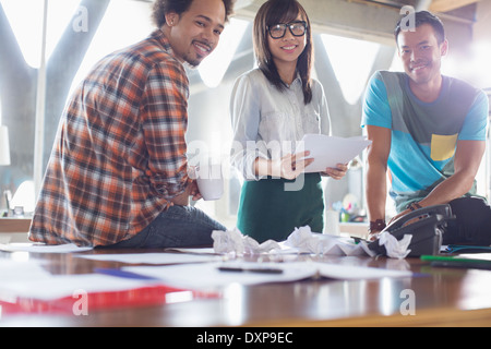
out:
M172 198L189 183L185 131L189 82L182 65L167 60L148 73L143 134L148 152L147 173L158 195Z

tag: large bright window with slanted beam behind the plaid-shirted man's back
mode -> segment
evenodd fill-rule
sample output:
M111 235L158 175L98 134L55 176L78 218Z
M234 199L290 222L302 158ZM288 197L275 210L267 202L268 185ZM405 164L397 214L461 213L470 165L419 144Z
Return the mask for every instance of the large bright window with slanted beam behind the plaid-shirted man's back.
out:
M13 193L12 204L27 214L72 86L99 58L153 28L148 2L83 3L0 0L0 124L8 127L11 155L11 165L0 166L0 191ZM24 194L15 195L23 183ZM5 197L0 212L7 208Z

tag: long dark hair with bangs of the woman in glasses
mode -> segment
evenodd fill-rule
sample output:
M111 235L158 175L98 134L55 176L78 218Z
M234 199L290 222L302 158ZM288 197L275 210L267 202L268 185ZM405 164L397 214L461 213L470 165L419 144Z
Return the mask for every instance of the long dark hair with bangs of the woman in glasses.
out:
M279 77L267 44L267 36L270 35L267 26L278 23L291 23L297 19L298 14L307 22L307 44L297 62L297 71L302 80L303 101L307 105L312 100L310 75L313 64L312 32L309 16L297 0L268 0L260 8L254 19L254 52L261 71L272 84L279 91L283 91L285 83Z

